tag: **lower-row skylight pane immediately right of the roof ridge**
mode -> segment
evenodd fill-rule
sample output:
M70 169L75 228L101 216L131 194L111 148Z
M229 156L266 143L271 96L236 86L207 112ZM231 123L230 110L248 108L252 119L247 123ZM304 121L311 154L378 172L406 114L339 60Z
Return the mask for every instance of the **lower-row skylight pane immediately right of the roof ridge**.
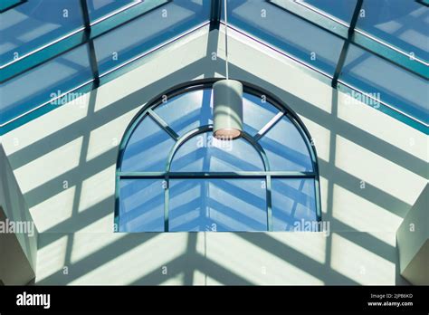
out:
M331 75L335 72L344 41L278 6L262 0L229 0L228 23L281 48L322 72Z

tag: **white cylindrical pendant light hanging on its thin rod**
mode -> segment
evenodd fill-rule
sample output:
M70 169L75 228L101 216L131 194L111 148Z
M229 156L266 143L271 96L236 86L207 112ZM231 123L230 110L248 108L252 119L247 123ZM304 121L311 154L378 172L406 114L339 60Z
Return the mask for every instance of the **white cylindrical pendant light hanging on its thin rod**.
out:
M226 13L226 0L224 0L226 78L213 85L213 135L220 140L240 138L243 133L243 84L240 81L229 80Z

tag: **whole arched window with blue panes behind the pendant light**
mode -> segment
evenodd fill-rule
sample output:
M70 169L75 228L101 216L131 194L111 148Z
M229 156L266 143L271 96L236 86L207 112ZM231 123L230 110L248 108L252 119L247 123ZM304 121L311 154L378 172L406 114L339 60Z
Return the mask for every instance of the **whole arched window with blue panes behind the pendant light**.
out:
M243 137L217 140L214 82L176 87L130 124L119 148L116 231L291 231L320 220L317 158L300 119L243 83Z

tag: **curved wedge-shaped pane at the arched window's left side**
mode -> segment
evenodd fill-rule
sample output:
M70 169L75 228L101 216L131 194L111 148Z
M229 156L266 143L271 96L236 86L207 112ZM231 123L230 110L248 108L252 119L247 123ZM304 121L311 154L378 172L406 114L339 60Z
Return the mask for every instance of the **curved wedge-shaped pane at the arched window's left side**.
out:
M140 122L129 138L122 157L123 172L166 170L167 156L175 141L150 117Z

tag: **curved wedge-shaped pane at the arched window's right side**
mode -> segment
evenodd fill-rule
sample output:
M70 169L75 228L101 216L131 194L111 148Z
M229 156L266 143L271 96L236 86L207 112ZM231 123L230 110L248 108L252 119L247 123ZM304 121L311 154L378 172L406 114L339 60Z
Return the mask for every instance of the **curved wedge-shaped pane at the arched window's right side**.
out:
M271 170L312 171L310 152L290 119L283 116L260 140Z

